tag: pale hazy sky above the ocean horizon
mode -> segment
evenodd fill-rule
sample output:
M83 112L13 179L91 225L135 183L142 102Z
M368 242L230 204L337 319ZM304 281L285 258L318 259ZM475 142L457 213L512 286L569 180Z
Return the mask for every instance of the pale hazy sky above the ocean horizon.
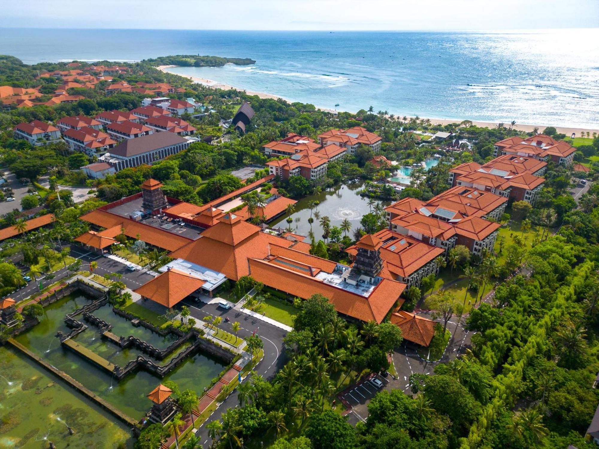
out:
M597 28L599 0L3 1L0 28L510 30Z

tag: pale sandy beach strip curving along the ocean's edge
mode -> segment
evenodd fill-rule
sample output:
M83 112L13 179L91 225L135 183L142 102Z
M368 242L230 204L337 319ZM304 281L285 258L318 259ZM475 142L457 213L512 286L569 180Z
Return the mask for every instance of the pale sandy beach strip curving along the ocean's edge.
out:
M192 80L194 83L198 83L198 84L202 84L202 86L205 87L211 87L213 89L223 89L223 90L231 90L231 89L235 89L235 90L240 90L241 92L246 92L247 95L256 95L259 98L270 98L270 99L278 99L281 98L285 101L288 101L291 103L291 100L280 96L280 95L273 95L272 93L266 93L266 92L255 92L253 90L246 90L246 89L242 89L241 87L236 87L236 86L231 86L230 84L225 84L225 83L220 83L219 81L215 81L215 80L208 80L208 78L199 78L199 77L194 77L192 75L180 75L178 73L174 73L174 72L170 72L167 69L173 68L173 67L179 67L177 65L159 65L156 68L161 71L161 72L165 72L165 73L170 73L171 75L179 75L180 77L184 77L184 78L188 78L189 80ZM322 108L319 106L316 106L317 109L321 110L321 111L326 111L326 112L330 112L330 113L337 113L337 112L349 112L352 114L355 114L356 111L336 111L330 108ZM398 116L398 114L395 114L396 116ZM412 117L407 116L409 119L411 119ZM420 117L420 119L426 119L427 117ZM428 117L429 120L431 120L433 125L449 125L450 123L460 123L463 120L470 120L470 119L453 119L453 120L447 120L447 119L434 119L432 117ZM497 127L497 125L500 122L481 122L479 120L470 120L472 122L473 125L479 126L480 128L495 128ZM506 126L506 128L510 125L510 122L505 122L504 125ZM516 129L517 131L522 131L522 132L533 132L534 128L539 128L539 132L543 132L543 129L547 128L547 126L552 126L552 125L528 125L527 123L516 123L516 125L513 127L513 129ZM557 130L557 132L559 134L565 134L567 137L570 137L572 135L572 133L576 133L577 137L580 137L582 132L590 132L591 134L593 132L597 132L597 134L599 134L599 129L592 129L592 128L573 128L571 126L554 126L554 128Z

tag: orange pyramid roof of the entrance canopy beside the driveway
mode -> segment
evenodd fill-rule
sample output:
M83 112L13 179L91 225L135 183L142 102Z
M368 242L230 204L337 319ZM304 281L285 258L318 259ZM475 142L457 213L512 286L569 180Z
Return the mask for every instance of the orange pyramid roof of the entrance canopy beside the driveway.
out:
M171 268L133 291L164 307L171 308L198 290L204 283L204 280Z

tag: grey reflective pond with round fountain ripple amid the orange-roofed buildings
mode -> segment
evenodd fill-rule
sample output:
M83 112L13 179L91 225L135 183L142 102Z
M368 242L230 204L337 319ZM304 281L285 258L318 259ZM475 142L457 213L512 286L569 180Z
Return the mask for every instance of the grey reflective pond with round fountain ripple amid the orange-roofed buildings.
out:
M339 226L344 219L349 220L352 224L352 230L360 227L360 220L364 214L371 212L371 207L368 206L369 198L359 195L359 191L364 187L364 181L346 182L338 184L331 189L327 189L318 195L309 195L300 199L295 204L295 213L291 215L294 222L291 224L291 229L301 235L308 235L310 229L313 230L316 239L322 238L322 227L318 220L314 219L314 223L310 226L308 219L310 218L310 209L308 204L311 201L319 201L320 204L314 208L314 212L318 211L320 216L328 216L331 219L331 227ZM375 202L380 202L375 200ZM391 204L389 201L380 202L383 207ZM287 215L284 214L277 220L269 223L271 227L288 226Z

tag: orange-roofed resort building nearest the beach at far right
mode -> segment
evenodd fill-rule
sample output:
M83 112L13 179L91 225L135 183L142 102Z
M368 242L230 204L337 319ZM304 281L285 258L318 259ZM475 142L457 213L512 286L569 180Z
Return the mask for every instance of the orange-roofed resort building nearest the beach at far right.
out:
M513 154L544 161L552 160L558 165L568 166L573 162L575 152L576 148L564 141L537 134L526 139L516 136L496 142L494 156Z

